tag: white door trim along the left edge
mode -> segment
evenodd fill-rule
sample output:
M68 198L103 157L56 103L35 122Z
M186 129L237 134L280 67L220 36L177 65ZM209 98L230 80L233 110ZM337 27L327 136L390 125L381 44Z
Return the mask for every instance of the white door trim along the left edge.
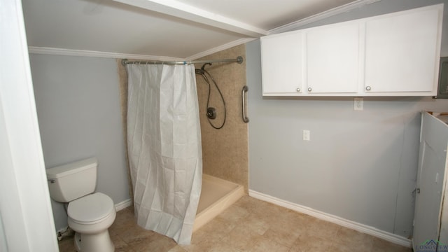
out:
M20 0L0 0L0 250L59 251Z

